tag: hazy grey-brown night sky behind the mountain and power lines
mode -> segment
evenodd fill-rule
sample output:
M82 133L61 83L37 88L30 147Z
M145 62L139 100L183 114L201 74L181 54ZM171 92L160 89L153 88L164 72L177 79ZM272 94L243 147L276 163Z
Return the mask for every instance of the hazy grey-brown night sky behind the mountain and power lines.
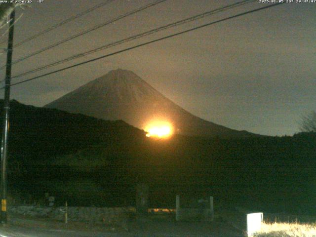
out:
M295 0L294 0L295 1ZM76 15L104 0L33 0L18 9L14 42ZM148 4L115 0L17 47L13 60ZM13 65L12 76L175 22L234 0L166 0L154 7ZM183 31L268 3L259 0L121 44L25 76L28 79L148 40ZM1 35L7 28L0 29ZM2 36L0 41L5 40ZM12 87L11 98L43 106L118 68L131 70L192 114L233 128L266 135L299 132L302 115L316 110L316 3L284 3L181 36ZM6 43L0 45L6 47ZM1 65L5 54L0 55ZM4 79L4 70L1 72ZM3 98L3 90L0 92Z

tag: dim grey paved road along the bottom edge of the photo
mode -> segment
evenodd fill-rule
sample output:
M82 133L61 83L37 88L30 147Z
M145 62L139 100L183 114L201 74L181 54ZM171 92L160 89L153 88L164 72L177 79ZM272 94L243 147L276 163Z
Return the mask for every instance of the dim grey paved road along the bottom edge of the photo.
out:
M134 222L129 232L100 233L74 230L54 230L32 227L0 226L0 237L243 237L242 233L224 223L193 225L163 222Z

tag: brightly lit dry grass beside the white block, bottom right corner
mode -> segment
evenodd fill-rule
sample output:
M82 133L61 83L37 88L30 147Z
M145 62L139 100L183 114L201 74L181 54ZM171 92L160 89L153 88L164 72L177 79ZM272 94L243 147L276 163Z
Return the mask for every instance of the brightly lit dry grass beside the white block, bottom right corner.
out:
M254 237L316 237L316 223L263 223Z

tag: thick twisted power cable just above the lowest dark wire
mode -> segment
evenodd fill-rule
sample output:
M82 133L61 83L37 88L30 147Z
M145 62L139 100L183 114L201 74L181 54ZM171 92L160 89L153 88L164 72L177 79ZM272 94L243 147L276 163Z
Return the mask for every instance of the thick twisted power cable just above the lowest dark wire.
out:
M234 8L234 7L237 7L237 6L240 6L240 5L248 4L248 3L254 2L254 1L257 1L257 0L242 0L242 1L239 1L239 2L234 3L234 4L230 4L230 5L226 5L226 6L217 8L217 9L215 9L215 10L207 11L207 12L204 12L204 13L202 13L202 14L198 14L198 15L195 15L195 16L193 16L193 17L189 17L189 18L186 18L186 19L183 19L183 20L180 20L180 21L176 21L176 22L174 22L174 23L170 23L170 24L161 26L161 27L159 27L159 28L155 28L155 29L152 29L152 30L150 30L150 31L143 32L143 33L140 33L140 34L131 36L131 37L126 38L126 39L123 39L123 40L118 40L118 41L115 41L115 42L112 42L112 43L103 45L103 46L101 46L101 47L98 47L98 48L95 48L95 49L86 51L86 52L84 52L84 53L79 53L79 54L73 55L73 56L71 56L71 57L69 57L69 58L62 59L62 60L59 60L59 61L57 61L57 62L54 62L54 63L48 64L48 65L42 66L42 67L40 67L40 68L30 70L30 71L28 71L28 72L25 72L25 73L16 75L16 76L14 76L14 77L12 77L12 78L19 78L19 77L22 77L22 76L25 76L25 75L28 75L28 74L31 74L31 73L39 72L39 71L42 71L42 70L44 70L44 69L47 69L47 68L50 68L50 67L53 67L53 66L62 64L62 63L66 63L66 62L68 62L68 61L71 61L71 60L74 60L74 59L78 59L78 58L80 58L80 57L83 57L83 56L86 56L86 55L89 55L89 54L92 54L92 53L95 53L95 52L104 50L104 49L106 49L106 48L114 47L114 46L117 46L117 45L119 45L119 44L122 44L122 43L125 43L125 42L128 42L128 41L131 41L131 40L136 40L136 39L139 39L139 38L142 38L142 37L145 37L145 36L149 36L149 35L151 35L151 34L154 34L154 33L159 32L159 31L166 30L166 29L171 28L171 27L179 26L179 25L182 25L182 24L191 22L191 21L195 21L195 20L197 20L197 19L201 19L201 18L203 18L203 17L209 16L209 15L212 15L212 14L216 14L216 13L218 13L218 12L225 11L225 10L228 10L228 9L231 9L231 8Z

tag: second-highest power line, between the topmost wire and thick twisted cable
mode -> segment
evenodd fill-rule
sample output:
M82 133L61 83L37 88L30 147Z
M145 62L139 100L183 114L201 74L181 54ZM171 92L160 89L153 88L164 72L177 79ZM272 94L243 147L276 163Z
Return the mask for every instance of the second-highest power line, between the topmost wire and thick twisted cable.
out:
M30 58L30 57L32 57L32 56L35 56L35 55L37 55L37 54L40 54L40 53L42 53L42 52L44 52L44 51L46 51L46 50L48 50L48 49L54 48L54 47L56 47L56 46L58 46L58 45L60 45L60 44L62 44L62 43L65 43L65 42L67 42L67 41L70 41L70 40L73 40L73 39L75 39L75 38L78 38L79 36L83 36L83 35L85 35L85 34L87 34L87 33L89 33L89 32L95 31L95 30L97 30L97 29L99 29L99 28L101 28L101 27L104 27L104 26L106 26L106 25L109 25L109 24L111 24L111 23L113 23L113 22L116 22L116 21L118 21L118 20L120 20L120 19L122 19L122 18L125 18L125 17L127 17L127 16L132 15L132 14L135 14L135 13L137 13L137 12L139 12L139 11L142 11L142 10L147 9L147 8L149 8L149 7L155 6L155 5L157 5L157 4L159 4L159 3L163 2L163 1L166 1L166 0L158 0L158 1L155 1L155 2L153 2L153 3L147 4L147 5L145 5L145 6L142 6L142 7L138 8L138 9L135 9L135 10L133 10L133 11L127 12L127 13L125 13L125 14L123 14L123 15L120 15L120 16L118 16L118 17L116 17L116 18L114 18L114 19L112 19L112 20L109 20L109 21L107 21L107 22L105 22L105 23L96 25L96 26L94 26L94 27L92 27L92 28L90 28L90 29L87 29L87 30L85 30L85 31L83 31L83 32L80 32L80 33L78 33L78 34L76 34L76 35L73 35L73 36L68 37L68 38L66 38L66 39L64 39L64 40L58 41L58 42L56 42L56 43L54 43L54 44L51 44L51 45L49 45L49 46L47 46L47 47L41 48L41 49L38 50L38 51L35 51L35 52L31 53L31 54L28 54L28 55L26 55L26 56L24 56L24 57L22 57L22 58L19 58L19 59L15 60L12 64L16 64L16 63L19 63L19 62L21 62L21 61L24 61L25 59L28 59L28 58ZM0 67L0 70L3 69L4 67L5 67L5 65L1 66L1 67Z

